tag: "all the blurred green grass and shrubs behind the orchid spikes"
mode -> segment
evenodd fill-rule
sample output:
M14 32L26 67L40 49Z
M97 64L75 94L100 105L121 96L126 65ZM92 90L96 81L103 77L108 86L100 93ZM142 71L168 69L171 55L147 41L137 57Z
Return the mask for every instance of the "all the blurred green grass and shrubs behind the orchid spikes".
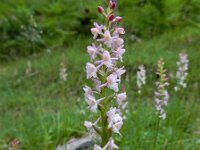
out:
M86 133L82 87L90 28L101 22L106 0L1 0L0 147L17 140L25 150L46 150ZM125 150L147 150L155 134L153 106L156 63L165 59L170 105L157 149L200 149L200 1L118 0L126 29L125 80L129 114L118 142ZM178 54L189 55L188 88L174 93ZM61 64L67 81L60 80ZM147 85L137 94L136 71L147 68Z

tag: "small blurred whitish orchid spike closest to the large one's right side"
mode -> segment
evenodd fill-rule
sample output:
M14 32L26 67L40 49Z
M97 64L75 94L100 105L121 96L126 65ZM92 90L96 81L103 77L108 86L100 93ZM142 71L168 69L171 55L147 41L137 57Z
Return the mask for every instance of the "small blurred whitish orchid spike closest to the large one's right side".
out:
M142 85L146 84L146 70L143 65L138 67L137 71L137 86L138 86L138 93L141 94Z

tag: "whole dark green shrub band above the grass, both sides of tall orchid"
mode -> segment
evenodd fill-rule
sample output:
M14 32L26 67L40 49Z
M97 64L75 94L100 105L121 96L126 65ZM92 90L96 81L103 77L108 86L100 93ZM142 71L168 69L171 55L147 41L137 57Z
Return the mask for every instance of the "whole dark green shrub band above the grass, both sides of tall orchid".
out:
M88 36L103 0L1 0L0 60L70 45ZM105 2L104 2L105 3ZM150 39L200 22L199 0L119 0L119 15L131 39ZM28 44L27 44L28 43Z

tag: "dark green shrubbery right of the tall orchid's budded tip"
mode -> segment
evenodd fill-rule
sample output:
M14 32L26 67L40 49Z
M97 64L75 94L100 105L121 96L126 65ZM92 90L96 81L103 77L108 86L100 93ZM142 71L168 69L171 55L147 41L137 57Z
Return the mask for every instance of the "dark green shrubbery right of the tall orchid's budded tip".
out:
M194 24L199 20L197 0L126 0L119 1L127 30L151 38L174 27Z

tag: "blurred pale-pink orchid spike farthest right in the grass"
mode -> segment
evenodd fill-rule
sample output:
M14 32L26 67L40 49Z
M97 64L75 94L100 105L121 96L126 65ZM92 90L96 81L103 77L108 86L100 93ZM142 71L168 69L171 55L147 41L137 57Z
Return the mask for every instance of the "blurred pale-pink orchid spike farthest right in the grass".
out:
M177 86L174 87L175 91L180 90L181 87L186 88L187 84L185 82L187 76L188 76L188 56L185 53L180 54L180 60L177 62L178 70L176 73L176 79L177 79Z

